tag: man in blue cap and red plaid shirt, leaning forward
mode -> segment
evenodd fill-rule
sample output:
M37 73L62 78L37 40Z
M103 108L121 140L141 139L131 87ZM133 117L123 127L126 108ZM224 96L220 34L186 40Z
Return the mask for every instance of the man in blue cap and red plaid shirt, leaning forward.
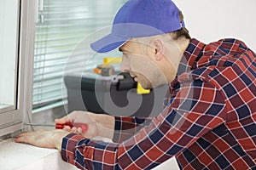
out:
M182 169L256 168L256 54L244 42L204 44L189 37L172 1L131 0L91 48L119 48L122 69L143 88L168 83L166 109L154 118L75 111L55 122L83 122L87 132L26 132L17 142L57 148L87 169L151 169L172 156Z

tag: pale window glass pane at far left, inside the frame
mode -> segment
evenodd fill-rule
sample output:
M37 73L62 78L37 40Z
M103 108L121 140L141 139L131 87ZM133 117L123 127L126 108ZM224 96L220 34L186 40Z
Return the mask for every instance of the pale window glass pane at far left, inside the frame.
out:
M0 113L15 108L18 4L0 1Z

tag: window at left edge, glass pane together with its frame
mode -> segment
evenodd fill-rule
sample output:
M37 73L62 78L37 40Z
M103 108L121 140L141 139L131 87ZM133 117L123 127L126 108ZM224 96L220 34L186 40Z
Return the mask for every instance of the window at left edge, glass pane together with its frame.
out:
M35 5L29 1L0 1L0 137L20 130L31 112Z

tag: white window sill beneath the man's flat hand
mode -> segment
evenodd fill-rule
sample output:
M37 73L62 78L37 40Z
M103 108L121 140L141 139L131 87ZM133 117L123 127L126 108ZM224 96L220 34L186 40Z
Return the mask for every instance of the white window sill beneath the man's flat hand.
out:
M15 139L0 142L0 165L4 170L77 170L62 161L58 150L38 148L29 144L17 144Z

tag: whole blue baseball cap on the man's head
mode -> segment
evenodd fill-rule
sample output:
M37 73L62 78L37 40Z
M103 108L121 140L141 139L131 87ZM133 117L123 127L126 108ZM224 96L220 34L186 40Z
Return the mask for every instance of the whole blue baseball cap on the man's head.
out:
M151 37L184 27L171 0L130 0L115 15L112 31L90 44L98 53L119 48L132 37Z

